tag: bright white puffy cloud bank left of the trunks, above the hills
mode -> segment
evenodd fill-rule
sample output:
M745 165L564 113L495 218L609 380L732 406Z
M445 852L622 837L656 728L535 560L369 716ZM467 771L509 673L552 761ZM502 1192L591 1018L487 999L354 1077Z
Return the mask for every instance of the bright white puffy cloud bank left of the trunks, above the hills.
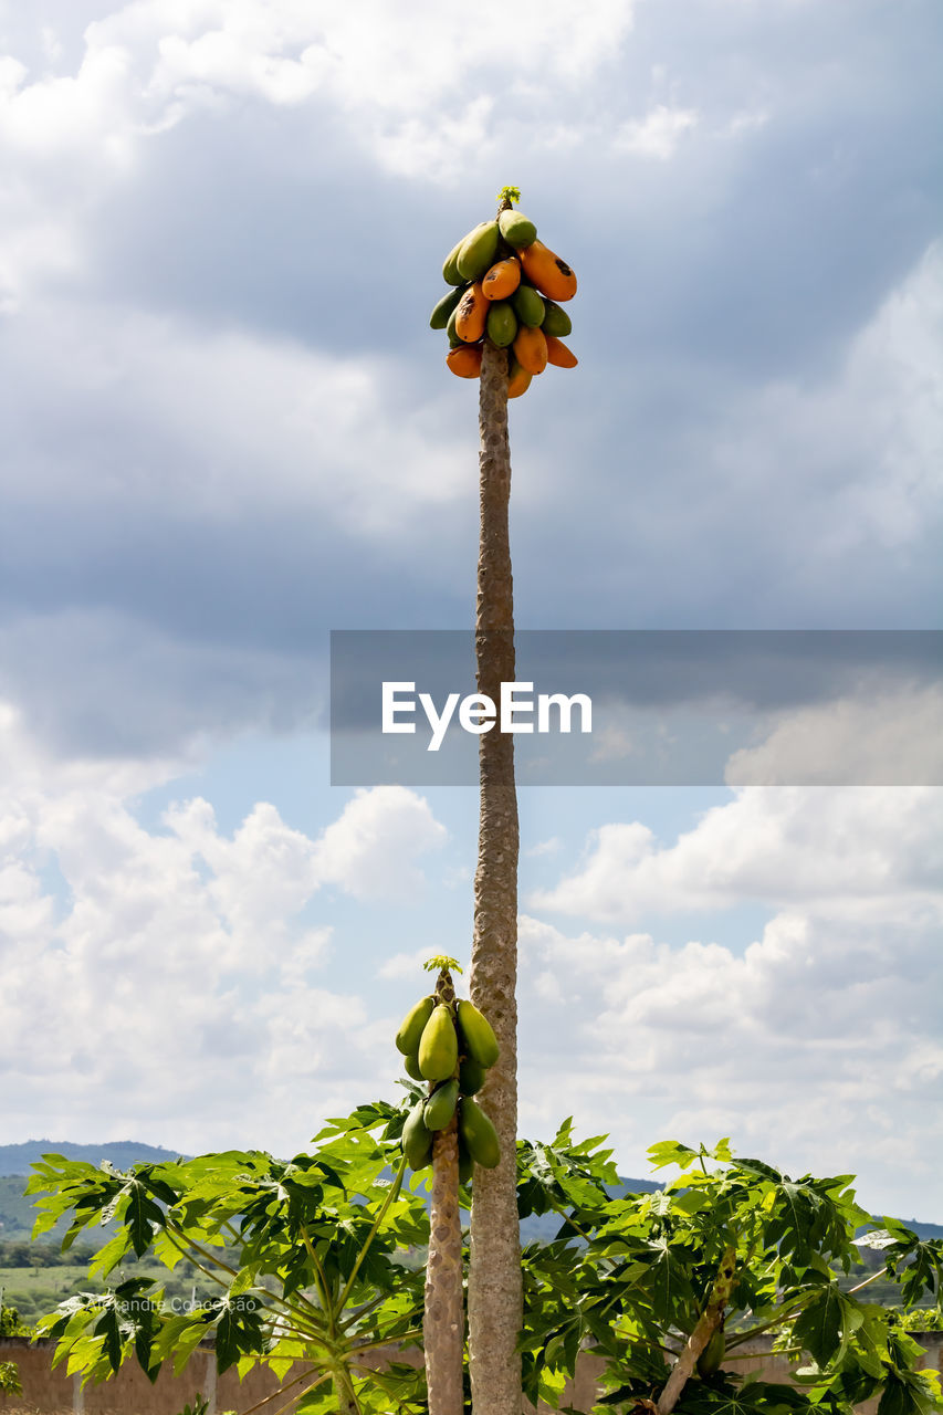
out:
M415 890L419 856L445 835L425 801L358 792L319 838L266 802L232 836L204 799L147 829L135 797L173 778L166 763L55 761L8 709L0 760L7 1138L106 1131L208 1148L255 1114L262 1142L302 1145L306 1125L392 1080L388 1019L319 979L344 940L327 904L321 921L307 916L328 884L375 901L404 880Z

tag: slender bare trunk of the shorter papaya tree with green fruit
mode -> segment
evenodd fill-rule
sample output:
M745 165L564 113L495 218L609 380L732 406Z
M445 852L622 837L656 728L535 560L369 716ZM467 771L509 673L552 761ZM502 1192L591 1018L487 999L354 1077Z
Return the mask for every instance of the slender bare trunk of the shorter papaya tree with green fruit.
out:
M455 1005L450 974L436 983L436 1002ZM429 1087L435 1090L435 1087ZM462 1298L462 1211L459 1210L459 1128L455 1115L432 1142L432 1207L422 1324L429 1415L462 1415L464 1316Z

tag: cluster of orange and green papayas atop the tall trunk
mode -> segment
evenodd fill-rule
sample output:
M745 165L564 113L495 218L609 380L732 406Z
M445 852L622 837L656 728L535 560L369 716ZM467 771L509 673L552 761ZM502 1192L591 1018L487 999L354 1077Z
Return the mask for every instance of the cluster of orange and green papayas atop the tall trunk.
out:
M486 337L510 350L508 398L527 392L548 364L576 366L562 341L572 321L559 303L576 294L576 276L537 239L522 211L508 207L470 231L446 256L442 275L452 289L429 325L447 333L446 364L459 378L479 378Z

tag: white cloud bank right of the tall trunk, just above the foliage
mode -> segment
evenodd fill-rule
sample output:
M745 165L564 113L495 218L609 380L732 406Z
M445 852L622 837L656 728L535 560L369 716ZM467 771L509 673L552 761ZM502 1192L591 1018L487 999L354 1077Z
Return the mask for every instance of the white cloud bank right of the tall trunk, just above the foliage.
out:
M521 1129L573 1112L633 1174L656 1139L732 1135L791 1173L864 1172L875 1208L939 1220L937 934L939 911L797 907L738 957L524 918Z

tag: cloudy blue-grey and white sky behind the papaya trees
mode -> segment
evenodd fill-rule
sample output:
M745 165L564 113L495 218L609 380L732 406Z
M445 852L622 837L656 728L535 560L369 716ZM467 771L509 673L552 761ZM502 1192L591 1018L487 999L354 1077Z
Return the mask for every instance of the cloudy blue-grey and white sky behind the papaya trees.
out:
M503 184L579 276L513 405L518 624L937 627L939 4L573 14L0 0L0 1139L302 1148L467 959L474 790L331 787L327 649L470 623L426 320ZM522 791L521 1132L943 1221L942 816Z

